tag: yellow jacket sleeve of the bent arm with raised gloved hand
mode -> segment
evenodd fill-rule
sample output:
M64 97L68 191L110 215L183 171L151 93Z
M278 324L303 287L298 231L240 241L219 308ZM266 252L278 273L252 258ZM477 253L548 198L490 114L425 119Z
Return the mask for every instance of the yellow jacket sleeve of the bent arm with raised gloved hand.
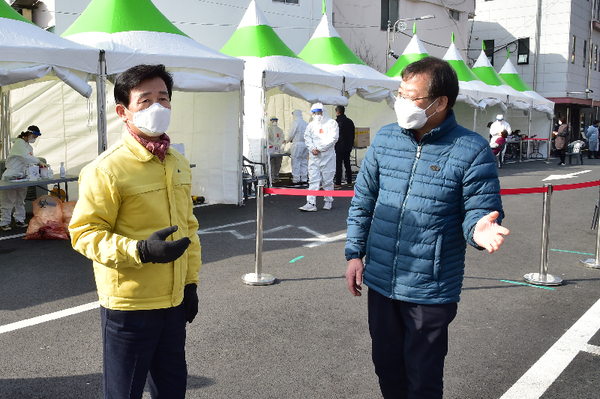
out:
M114 177L97 167L79 176L79 200L69 224L71 244L85 257L107 267L142 267L137 240L113 232L121 198Z

